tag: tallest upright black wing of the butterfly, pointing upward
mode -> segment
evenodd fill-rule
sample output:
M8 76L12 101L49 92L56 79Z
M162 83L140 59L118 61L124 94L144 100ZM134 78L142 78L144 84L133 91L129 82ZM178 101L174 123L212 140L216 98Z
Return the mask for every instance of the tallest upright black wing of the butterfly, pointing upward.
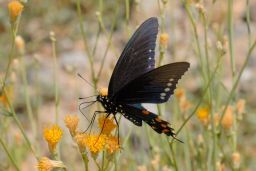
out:
M131 80L154 69L157 33L158 21L152 17L133 34L112 73L108 86L110 98Z

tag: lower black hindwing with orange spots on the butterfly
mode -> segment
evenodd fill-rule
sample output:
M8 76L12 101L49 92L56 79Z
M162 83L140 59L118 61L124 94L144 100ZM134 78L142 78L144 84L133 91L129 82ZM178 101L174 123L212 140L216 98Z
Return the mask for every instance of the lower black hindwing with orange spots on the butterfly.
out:
M175 136L173 128L167 121L162 120L158 115L141 107L133 105L123 105L123 115L125 118L133 122L137 126L142 125L142 121L146 122L152 129L159 134L166 134L167 136Z

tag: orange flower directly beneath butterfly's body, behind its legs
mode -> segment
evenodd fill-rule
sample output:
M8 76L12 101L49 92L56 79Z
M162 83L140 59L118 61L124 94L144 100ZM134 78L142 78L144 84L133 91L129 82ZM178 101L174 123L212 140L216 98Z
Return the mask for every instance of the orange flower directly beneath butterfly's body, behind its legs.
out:
M99 128L103 128L102 133L109 135L115 128L116 124L114 123L114 118L106 118L105 115L102 115L98 119Z

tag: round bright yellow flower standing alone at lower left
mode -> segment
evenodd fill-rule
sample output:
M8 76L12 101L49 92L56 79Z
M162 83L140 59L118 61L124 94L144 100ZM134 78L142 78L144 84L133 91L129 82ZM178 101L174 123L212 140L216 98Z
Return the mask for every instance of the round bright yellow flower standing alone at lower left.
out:
M52 125L50 128L44 129L44 139L48 143L49 150L54 152L57 143L62 137L63 131L58 125Z

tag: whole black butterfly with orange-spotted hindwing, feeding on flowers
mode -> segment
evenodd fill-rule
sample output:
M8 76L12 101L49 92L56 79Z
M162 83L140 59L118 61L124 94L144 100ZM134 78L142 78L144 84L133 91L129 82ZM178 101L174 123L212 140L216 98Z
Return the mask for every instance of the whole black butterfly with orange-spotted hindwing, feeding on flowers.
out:
M122 114L137 126L145 122L159 134L175 138L174 129L142 103L164 103L174 93L178 80L188 70L188 62L176 62L155 68L155 46L158 20L149 18L132 35L112 73L108 92L100 92L96 101L106 113ZM176 139L176 138L175 138Z

